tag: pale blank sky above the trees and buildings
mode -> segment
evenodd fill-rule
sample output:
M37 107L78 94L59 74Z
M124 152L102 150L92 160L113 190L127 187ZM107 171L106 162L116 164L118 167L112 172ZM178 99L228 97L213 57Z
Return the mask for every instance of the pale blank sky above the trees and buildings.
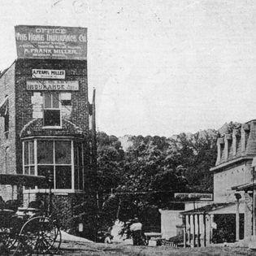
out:
M115 136L256 119L254 0L0 0L0 70L14 26L88 28L89 99Z

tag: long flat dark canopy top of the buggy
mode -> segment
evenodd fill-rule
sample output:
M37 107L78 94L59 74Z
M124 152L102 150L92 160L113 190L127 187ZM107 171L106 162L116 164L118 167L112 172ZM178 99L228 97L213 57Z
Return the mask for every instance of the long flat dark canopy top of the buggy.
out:
M47 180L45 176L33 176L27 174L0 174L0 184L33 187L39 184L47 184Z

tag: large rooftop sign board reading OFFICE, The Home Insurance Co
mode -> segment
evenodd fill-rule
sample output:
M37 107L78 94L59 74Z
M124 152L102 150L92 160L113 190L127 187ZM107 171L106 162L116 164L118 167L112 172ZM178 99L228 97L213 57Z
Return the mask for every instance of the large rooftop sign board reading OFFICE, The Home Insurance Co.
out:
M15 26L20 59L86 59L87 28Z

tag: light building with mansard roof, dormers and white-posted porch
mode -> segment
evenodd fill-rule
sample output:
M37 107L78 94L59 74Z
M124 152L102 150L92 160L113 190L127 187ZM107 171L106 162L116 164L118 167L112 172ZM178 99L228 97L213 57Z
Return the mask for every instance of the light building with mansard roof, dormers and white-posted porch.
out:
M214 202L181 212L184 245L240 241L249 245L255 231L256 121L233 124L220 134L214 172Z

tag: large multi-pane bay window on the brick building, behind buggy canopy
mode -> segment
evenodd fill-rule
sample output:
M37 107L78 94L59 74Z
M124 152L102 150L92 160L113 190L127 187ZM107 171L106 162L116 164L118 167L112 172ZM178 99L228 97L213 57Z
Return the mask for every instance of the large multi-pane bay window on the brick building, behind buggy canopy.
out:
M71 140L24 141L24 173L54 177L52 189L84 189L83 144ZM37 189L48 189L39 185Z

